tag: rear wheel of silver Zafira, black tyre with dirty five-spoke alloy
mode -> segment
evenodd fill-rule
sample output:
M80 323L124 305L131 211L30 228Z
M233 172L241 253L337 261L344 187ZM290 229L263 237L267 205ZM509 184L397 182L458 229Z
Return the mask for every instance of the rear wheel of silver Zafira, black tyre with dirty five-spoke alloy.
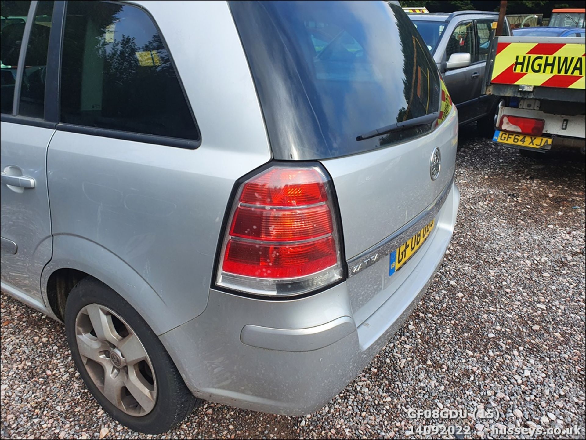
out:
M97 279L84 278L71 289L64 320L81 378L121 424L160 434L182 421L199 401L145 320Z

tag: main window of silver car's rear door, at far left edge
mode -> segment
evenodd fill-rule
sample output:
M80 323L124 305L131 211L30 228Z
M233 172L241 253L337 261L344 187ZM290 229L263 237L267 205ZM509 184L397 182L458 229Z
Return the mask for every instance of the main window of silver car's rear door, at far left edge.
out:
M22 35L30 2L0 1L0 112L12 114Z

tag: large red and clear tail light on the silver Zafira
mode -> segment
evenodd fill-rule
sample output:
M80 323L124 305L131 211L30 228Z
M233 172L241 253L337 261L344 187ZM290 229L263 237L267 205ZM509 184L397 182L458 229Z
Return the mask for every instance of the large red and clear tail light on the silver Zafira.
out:
M272 166L240 185L216 284L297 295L342 279L332 186L319 166Z

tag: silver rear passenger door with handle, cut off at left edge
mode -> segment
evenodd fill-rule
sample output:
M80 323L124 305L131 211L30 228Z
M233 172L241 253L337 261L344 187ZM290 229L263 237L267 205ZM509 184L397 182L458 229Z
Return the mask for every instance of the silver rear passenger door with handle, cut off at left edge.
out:
M52 254L46 154L54 124L45 120L45 82L53 3L1 6L3 17L26 17L1 31L2 288L41 304L40 275Z

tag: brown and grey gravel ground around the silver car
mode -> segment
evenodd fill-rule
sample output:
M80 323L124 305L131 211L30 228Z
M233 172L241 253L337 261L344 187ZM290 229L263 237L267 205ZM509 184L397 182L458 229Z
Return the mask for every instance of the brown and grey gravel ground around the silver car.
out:
M473 127L461 130L458 225L427 295L316 414L208 403L165 436L130 431L87 392L63 327L2 294L1 437L423 438L437 436L425 435L424 425L451 425L462 429L456 438L516 437L495 427L574 426L580 434L561 437L584 438L584 156L534 162L473 136ZM469 414L425 418L410 408ZM470 414L477 408L485 418Z

